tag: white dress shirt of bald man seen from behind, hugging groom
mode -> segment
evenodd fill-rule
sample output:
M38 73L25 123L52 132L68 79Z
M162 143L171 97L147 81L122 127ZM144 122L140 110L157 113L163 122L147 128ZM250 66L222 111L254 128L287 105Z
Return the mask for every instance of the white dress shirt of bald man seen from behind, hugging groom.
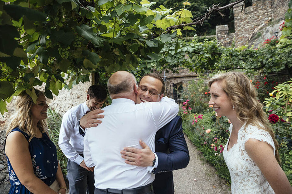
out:
M84 161L94 168L94 186L98 189L132 189L154 181L147 167L125 163L120 151L124 147L141 149L143 140L152 151L156 132L178 113L173 99L135 104L130 99L113 99L103 108L104 118L97 127L86 129Z

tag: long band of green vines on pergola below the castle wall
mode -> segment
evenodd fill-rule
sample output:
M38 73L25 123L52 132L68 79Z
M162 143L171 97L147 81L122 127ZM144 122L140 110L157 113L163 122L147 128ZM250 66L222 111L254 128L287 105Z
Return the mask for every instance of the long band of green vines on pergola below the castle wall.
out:
M246 46L239 48L223 47L216 40L199 42L196 36L189 41L173 40L165 44L157 56L158 60L145 60L141 64L155 67L158 71L189 68L196 73L241 69L246 72L260 70L263 74L280 72L292 67L292 47L279 48L266 44L254 49Z

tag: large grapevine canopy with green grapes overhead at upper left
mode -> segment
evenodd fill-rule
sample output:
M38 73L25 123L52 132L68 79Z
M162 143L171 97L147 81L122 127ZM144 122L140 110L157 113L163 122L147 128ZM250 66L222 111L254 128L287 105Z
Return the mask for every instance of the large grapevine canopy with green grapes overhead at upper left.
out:
M91 72L134 70L141 59L157 60L164 43L182 30L164 34L165 29L190 22L192 14L185 5L173 12L162 5L152 10L154 4L1 1L1 113L11 95L33 86L44 84L45 95L53 98L52 93L58 95L65 85L70 89L74 83L89 81Z

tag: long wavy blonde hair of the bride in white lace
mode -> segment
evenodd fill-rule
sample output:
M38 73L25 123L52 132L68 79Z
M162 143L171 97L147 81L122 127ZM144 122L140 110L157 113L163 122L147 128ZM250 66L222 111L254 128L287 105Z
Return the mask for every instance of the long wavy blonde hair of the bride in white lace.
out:
M280 164L279 144L249 78L242 72L227 72L212 77L208 83L209 88L214 82L222 83L224 92L228 95L231 104L236 107L237 118L242 125L246 122L245 127L251 124L269 132L275 144L276 160Z

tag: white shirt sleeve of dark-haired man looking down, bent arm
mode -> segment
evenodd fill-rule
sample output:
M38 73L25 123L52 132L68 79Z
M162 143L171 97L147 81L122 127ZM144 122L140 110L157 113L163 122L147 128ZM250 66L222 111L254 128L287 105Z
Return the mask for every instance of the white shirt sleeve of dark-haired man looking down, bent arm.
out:
M76 118L70 112L64 114L59 134L59 147L69 160L80 165L84 159L69 143L74 129L74 121L76 122Z

